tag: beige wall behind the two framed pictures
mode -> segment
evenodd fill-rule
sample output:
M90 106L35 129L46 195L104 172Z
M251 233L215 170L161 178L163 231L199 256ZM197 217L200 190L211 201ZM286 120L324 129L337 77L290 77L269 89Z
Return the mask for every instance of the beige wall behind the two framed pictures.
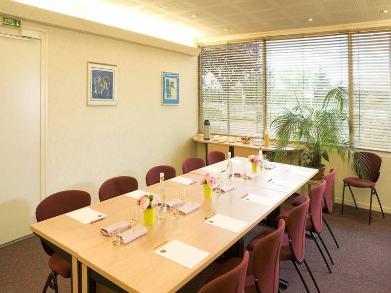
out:
M156 165L181 173L196 154L197 58L89 34L48 29L46 194L78 188L98 201L110 177L145 186ZM87 61L118 65L117 106L87 107ZM179 73L180 104L161 105L161 72Z

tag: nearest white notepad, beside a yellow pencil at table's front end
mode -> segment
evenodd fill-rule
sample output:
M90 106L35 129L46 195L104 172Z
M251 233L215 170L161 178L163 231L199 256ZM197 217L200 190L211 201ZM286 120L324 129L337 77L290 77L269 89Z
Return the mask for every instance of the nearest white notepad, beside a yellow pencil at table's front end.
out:
M188 269L193 269L210 254L178 240L173 240L154 252Z

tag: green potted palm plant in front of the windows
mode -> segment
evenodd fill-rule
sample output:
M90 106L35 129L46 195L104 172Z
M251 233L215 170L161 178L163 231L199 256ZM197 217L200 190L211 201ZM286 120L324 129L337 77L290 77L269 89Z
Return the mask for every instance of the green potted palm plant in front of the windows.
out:
M329 154L337 153L343 162L351 161L352 168L360 173L361 178L368 178L368 166L363 160L356 160L355 152L349 143L353 134L353 126L348 115L348 90L341 84L326 94L323 105L315 108L307 105L297 105L292 109L284 108L273 120L272 130L279 140L279 151L275 154L276 161L282 161L286 156L285 147L295 143L300 150L299 165L319 170L317 177L323 176L326 166L322 160L329 161Z

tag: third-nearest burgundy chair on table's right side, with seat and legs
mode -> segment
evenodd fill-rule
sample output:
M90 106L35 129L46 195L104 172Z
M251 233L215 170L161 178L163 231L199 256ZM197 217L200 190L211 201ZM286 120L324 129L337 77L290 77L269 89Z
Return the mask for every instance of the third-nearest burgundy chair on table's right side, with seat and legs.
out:
M305 267L307 268L309 275L311 276L312 281L315 284L315 287L319 291L318 284L315 281L315 278L308 267L307 262L305 261L305 224L306 217L308 214L309 207L309 198L305 197L304 202L289 213L288 219L286 221L286 228L288 231L288 235L284 235L282 237L281 251L280 251L280 260L290 260L297 273L300 276L300 279L303 282L305 290L309 293L309 289L307 284L305 283L302 272L300 272L298 264L302 264L304 262ZM256 236L247 246L247 250L253 251L254 247L257 245L259 241L264 237L262 233Z

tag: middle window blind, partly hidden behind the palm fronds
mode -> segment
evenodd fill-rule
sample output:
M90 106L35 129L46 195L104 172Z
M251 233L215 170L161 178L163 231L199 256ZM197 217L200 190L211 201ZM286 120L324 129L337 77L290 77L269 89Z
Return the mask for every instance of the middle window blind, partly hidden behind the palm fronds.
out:
M339 83L348 87L347 34L266 40L268 126L297 100L301 106L321 108L327 92ZM347 126L342 128L348 139Z

